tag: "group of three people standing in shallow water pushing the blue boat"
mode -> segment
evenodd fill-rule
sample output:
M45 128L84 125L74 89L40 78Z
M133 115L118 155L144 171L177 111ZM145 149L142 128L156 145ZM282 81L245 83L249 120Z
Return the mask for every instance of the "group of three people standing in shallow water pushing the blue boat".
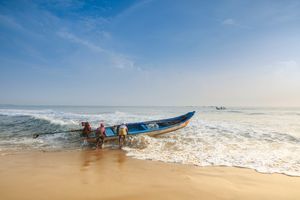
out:
M81 122L81 125L83 126L82 136L85 137L85 139L88 139L90 137L90 134L93 132L91 125L89 122ZM128 134L128 127L126 126L125 123L123 123L119 126L115 126L114 128L116 128L116 132L119 137L119 147L121 148L125 143L126 135ZM97 149L98 148L102 149L106 137L105 126L103 123L100 123L100 126L95 131L95 135L96 135L96 147Z

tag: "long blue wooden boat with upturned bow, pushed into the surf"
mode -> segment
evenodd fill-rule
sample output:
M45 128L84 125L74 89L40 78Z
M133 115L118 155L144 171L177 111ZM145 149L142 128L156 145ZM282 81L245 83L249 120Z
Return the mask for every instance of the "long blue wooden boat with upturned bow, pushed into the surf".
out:
M146 122L136 122L136 123L127 123L128 135L149 135L156 136L164 133L169 133L176 131L178 129L184 128L188 125L190 119L195 114L195 111L186 113L174 118L146 121ZM105 128L106 138L105 140L115 140L118 139L118 126L110 126ZM88 142L95 142L95 136L91 135L88 139Z

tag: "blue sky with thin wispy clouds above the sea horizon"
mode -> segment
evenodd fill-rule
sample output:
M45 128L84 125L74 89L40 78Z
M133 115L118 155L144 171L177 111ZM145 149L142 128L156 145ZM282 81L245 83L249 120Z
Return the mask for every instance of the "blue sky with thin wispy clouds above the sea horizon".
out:
M300 106L300 1L0 0L0 104Z

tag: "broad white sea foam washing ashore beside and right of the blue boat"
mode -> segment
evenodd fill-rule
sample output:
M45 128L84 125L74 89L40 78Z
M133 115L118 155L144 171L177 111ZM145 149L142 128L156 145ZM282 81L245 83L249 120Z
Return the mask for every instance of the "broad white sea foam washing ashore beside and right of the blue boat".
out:
M195 116L183 130L159 138L141 136L124 148L128 156L198 166L237 166L300 176L300 143L284 133L216 123Z

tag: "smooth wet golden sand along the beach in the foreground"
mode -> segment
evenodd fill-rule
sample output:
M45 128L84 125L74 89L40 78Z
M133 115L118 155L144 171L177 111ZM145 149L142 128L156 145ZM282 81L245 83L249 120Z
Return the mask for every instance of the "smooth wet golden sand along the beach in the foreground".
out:
M0 157L0 199L300 199L300 178L128 158L121 150Z

